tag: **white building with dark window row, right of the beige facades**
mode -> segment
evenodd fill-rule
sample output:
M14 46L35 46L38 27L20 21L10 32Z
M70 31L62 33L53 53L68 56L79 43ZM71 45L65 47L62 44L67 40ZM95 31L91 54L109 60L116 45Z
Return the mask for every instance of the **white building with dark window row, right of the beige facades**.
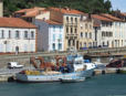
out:
M99 14L93 14L92 18L94 20L95 45L113 47L113 20Z

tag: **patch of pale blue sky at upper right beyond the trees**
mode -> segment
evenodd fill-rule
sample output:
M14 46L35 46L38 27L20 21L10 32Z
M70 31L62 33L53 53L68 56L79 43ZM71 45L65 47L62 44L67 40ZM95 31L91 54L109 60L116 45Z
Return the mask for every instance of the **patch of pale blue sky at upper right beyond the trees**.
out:
M126 12L126 0L111 0L114 10L119 9L122 12Z

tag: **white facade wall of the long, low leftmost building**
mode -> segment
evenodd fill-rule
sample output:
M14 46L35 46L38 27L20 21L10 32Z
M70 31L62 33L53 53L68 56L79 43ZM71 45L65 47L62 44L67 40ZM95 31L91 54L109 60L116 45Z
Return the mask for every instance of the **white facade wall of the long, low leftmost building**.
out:
M4 38L2 39L2 30L4 31ZM11 38L9 38L9 31ZM20 32L20 38L15 38L15 31ZM28 31L29 39L24 39L24 31ZM34 39L31 39L31 31L34 32ZM17 28L0 28L0 52L15 52L15 47L19 46L19 52L35 52L35 29L17 29Z

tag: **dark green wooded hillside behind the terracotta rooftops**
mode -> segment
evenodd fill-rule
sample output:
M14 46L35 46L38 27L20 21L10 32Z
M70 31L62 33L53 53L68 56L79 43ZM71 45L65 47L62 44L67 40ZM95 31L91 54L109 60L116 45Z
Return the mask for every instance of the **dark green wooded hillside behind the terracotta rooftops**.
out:
M6 17L32 7L69 7L87 13L109 13L112 8L109 0L3 0L3 3Z

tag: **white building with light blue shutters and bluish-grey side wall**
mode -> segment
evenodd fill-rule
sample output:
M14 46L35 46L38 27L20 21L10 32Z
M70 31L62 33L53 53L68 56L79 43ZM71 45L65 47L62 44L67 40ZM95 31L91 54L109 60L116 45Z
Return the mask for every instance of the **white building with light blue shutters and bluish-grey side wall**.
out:
M64 51L63 23L52 20L35 20L35 25L39 28L39 51Z

